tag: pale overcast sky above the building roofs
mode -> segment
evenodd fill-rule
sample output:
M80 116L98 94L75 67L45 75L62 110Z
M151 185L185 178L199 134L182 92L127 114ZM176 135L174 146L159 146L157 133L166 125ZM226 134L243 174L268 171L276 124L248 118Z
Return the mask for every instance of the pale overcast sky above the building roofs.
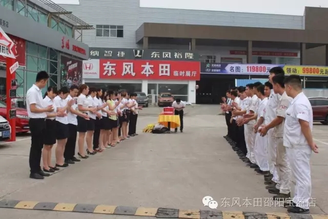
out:
M78 0L52 1L57 4L78 4L79 2ZM96 2L97 0L92 1ZM328 8L328 0L140 0L140 6L150 8L175 8L264 14L303 15L305 6Z

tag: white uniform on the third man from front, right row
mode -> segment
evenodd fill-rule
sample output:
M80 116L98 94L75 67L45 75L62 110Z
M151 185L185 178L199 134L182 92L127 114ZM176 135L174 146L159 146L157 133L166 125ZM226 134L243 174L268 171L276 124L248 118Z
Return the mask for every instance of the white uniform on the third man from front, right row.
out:
M276 109L278 106L280 95L275 94L273 89L271 90L271 94L268 100L267 107L265 107L265 118L264 124L268 125L272 120L274 120L276 115ZM273 136L273 129L271 128L268 131L268 162L269 162L269 169L270 173L273 174L272 181L278 182L279 177L276 168L276 158L277 158L277 142L276 138Z

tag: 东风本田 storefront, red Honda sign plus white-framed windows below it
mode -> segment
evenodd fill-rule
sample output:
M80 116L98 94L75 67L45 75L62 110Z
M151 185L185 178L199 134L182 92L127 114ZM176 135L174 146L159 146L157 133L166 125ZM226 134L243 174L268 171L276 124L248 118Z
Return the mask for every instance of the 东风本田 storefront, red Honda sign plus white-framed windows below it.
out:
M196 102L198 61L90 59L83 61L83 80L89 86L112 90L171 93L175 98ZM156 101L156 99L155 99Z

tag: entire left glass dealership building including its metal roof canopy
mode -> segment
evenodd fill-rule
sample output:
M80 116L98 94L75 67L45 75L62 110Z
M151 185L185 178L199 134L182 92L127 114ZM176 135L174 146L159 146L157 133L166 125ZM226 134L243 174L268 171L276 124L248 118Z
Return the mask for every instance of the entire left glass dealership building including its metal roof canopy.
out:
M18 105L24 105L38 71L50 74L49 85L82 82L82 60L89 58L89 46L78 40L77 33L92 26L48 0L0 0L0 27L15 42L13 52L20 66L16 71ZM6 95L6 59L2 56L0 95L2 99Z

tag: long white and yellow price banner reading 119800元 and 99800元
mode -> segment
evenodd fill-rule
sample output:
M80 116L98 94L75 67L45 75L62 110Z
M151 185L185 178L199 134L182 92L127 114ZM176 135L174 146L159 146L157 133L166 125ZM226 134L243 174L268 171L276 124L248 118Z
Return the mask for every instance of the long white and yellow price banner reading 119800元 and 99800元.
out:
M201 63L201 74L269 75L270 69L283 68L286 75L328 76L328 67L284 64Z

